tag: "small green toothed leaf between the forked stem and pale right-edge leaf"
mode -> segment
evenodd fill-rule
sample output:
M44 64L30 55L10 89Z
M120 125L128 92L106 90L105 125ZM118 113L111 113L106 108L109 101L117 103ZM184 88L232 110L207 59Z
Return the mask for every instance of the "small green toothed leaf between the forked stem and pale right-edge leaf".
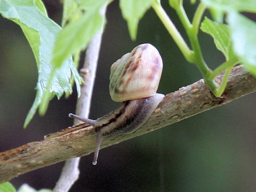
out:
M225 55L226 60L235 57L227 25L214 22L205 17L201 23L201 30L213 37L217 49Z

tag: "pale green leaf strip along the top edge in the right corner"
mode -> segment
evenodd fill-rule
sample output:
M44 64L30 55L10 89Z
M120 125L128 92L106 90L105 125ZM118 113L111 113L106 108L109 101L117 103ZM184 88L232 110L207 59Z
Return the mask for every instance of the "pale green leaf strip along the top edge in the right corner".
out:
M245 11L256 13L255 0L202 0L207 7L220 11Z

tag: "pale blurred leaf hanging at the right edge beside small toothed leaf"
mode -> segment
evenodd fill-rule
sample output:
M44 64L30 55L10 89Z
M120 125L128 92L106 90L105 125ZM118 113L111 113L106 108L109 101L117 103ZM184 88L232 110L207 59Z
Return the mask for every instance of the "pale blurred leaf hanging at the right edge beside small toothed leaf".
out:
M235 54L256 76L256 23L236 12L229 13L227 21Z

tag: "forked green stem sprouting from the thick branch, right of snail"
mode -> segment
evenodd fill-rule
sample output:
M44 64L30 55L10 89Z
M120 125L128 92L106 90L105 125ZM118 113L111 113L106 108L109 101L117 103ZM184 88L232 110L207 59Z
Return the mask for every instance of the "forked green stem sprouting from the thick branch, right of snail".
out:
M235 63L237 61L231 60L227 63L223 63L223 65L215 69L213 72L204 61L201 46L198 40L198 31L203 13L205 11L205 5L202 2L199 3L192 21L192 25L187 17L187 14L183 8L182 3L179 6L175 6L174 8L181 20L183 27L187 32L192 50L189 49L188 45L180 35L178 29L174 26L173 22L164 11L163 7L161 6L161 3L154 1L152 7L155 10L156 14L158 15L159 19L163 22L167 31L169 31L170 35L173 37L175 43L178 45L179 49L181 50L185 58L189 62L195 63L195 65L199 68L204 77L204 83L209 87L209 89L212 91L215 97L220 97L220 95L223 93L227 85L227 78L231 69L227 69L227 77L225 76L225 78L223 78L225 81L222 82L221 85L214 81L214 77L219 74L220 69L226 69L230 65L230 63Z

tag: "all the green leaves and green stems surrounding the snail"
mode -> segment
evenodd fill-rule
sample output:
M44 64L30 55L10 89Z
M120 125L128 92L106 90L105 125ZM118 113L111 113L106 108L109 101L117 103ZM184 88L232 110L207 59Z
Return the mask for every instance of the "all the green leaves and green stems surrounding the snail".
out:
M51 98L55 95L60 98L63 93L71 93L73 81L76 82L79 96L79 84L82 82L76 70L79 55L91 38L105 27L106 18L102 15L101 9L110 2L110 0L63 0L63 29L61 29L47 16L41 0L0 0L0 14L21 27L34 53L38 68L36 98L26 118L25 126L33 118L38 107L39 113L44 114ZM190 2L194 4L196 0ZM206 85L216 97L220 97L225 91L231 68L238 61L256 76L256 23L240 13L256 13L255 0L202 0L191 22L183 9L182 0L169 0L169 4L177 11L191 46L187 45L160 1L157 0L120 0L119 6L127 21L131 39L135 40L139 20L152 6L185 58L200 69ZM213 19L217 22L205 18L201 23L206 8L210 9ZM225 14L227 25L222 23ZM220 63L219 67L213 70L207 66L198 41L200 23L202 31L213 37L217 49L226 58L225 62ZM216 84L214 78L223 70L226 72L221 85ZM0 184L0 192L2 191L12 192L15 189L11 183L5 182ZM18 190L18 192L35 191L27 184L22 185Z

